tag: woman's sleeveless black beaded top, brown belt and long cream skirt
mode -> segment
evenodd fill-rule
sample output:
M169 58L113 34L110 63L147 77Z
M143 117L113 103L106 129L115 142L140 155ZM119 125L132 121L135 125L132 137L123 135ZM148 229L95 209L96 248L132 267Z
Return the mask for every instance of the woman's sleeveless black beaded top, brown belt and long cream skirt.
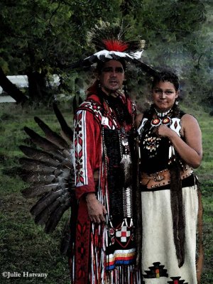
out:
M180 136L181 111L155 110L138 127L142 207L142 275L146 284L196 284L197 177L168 138L153 133L165 124Z

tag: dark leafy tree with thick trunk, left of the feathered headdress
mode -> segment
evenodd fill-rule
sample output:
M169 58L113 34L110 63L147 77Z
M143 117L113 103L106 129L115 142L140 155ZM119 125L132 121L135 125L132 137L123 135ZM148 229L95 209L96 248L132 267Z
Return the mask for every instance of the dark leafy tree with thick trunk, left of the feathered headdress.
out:
M9 67L4 71L28 75L30 98L49 100L53 92L45 77L63 75L67 63L81 58L86 53L89 28L102 15L111 20L116 6L116 1L110 5L86 0L4 1L0 7L0 28L4 31L0 35L0 61Z

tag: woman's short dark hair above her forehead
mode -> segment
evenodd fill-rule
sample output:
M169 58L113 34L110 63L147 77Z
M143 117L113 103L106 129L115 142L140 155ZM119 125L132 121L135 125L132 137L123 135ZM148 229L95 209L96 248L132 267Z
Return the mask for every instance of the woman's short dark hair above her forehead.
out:
M168 70L163 70L158 72L155 77L153 77L153 83L152 83L152 89L155 87L156 84L158 84L160 81L162 82L170 82L174 85L175 91L178 91L180 84L178 80L178 76L175 75L175 73L168 71Z

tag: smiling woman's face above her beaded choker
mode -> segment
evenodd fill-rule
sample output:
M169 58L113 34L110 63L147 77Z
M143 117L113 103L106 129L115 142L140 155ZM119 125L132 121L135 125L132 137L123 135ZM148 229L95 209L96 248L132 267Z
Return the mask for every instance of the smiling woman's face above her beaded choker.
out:
M175 104L178 91L175 90L173 83L160 81L153 87L153 103L159 112L168 111Z

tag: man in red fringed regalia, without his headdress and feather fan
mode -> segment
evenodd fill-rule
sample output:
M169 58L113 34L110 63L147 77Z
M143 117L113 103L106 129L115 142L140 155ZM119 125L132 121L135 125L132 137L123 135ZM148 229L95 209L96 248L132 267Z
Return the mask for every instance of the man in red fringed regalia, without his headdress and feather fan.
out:
M131 179L124 174L131 175L135 107L121 93L124 70L124 60L99 62L75 116L75 283L137 283Z

